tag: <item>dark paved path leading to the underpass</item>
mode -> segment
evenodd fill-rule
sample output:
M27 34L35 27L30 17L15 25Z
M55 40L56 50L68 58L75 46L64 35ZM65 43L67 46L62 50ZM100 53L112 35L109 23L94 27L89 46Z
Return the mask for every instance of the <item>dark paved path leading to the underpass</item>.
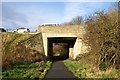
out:
M43 80L78 80L64 65L62 61L56 61Z

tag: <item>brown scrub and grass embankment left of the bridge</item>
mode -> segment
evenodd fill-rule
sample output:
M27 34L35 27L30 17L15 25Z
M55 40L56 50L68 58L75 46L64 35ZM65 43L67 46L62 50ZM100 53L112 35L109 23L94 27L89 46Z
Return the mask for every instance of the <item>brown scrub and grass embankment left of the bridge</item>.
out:
M37 62L45 60L45 56L36 50L27 48L20 42L25 41L34 34L2 33L2 65L3 68L12 63Z

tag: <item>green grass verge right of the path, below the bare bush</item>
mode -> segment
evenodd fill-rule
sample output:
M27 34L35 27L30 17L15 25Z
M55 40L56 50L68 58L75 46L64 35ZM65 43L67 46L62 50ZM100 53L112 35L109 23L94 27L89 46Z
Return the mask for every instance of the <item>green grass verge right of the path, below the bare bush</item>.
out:
M65 60L64 64L78 78L119 78L120 70L111 69L111 71L95 70L78 61Z

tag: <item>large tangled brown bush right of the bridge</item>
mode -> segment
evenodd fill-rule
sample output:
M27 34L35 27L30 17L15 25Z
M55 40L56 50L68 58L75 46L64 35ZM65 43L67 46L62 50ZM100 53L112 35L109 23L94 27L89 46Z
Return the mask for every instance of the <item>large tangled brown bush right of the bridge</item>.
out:
M119 14L116 4L112 9L95 12L86 19L84 41L91 50L79 55L77 60L83 60L104 71L109 68L120 68Z

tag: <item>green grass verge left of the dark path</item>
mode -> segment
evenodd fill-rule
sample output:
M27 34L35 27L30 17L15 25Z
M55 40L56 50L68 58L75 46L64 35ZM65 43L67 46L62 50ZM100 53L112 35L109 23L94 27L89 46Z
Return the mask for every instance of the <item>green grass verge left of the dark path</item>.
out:
M2 78L7 79L43 79L51 67L50 61L37 63L13 64L3 69Z

